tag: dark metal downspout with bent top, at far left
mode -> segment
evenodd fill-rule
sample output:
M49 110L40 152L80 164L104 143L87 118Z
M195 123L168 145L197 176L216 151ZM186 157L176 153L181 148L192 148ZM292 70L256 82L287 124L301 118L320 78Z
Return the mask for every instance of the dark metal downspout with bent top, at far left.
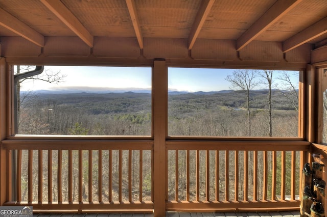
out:
M20 74L15 74L14 75L14 134L17 134L18 132L18 102L17 102L17 84L20 79L27 78L27 77L32 77L34 75L41 74L44 70L44 66L36 66L34 70L20 73ZM17 200L17 150L12 151L12 200L16 201Z

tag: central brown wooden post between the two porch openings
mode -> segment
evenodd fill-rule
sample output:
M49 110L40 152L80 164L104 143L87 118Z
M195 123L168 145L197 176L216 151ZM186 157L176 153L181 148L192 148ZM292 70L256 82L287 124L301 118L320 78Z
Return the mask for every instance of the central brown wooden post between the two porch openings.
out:
M166 216L166 137L168 135L168 71L166 61L155 60L152 69L154 216Z

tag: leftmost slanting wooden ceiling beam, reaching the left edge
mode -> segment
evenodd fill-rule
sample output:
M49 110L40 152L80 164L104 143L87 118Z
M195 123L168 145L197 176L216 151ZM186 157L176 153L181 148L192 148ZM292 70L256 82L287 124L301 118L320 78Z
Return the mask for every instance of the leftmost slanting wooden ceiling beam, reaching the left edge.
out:
M44 36L2 8L0 8L0 25L34 44L44 47Z

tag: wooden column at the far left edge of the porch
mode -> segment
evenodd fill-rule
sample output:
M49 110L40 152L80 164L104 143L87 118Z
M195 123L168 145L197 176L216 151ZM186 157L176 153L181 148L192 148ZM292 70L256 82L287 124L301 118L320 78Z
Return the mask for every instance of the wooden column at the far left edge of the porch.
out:
M0 46L1 48L1 46ZM7 135L7 71L5 58L0 57L0 174L6 174L6 150L1 143ZM7 200L7 176L0 176L0 205Z

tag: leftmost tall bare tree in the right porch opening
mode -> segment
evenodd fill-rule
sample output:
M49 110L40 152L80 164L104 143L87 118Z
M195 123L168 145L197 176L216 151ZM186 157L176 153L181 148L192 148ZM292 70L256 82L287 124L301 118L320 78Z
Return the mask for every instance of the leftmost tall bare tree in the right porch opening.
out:
M232 90L240 90L246 95L246 108L248 114L248 136L251 136L251 112L250 112L250 91L258 86L255 80L256 71L247 69L238 69L231 75L227 75L227 82L231 83Z

